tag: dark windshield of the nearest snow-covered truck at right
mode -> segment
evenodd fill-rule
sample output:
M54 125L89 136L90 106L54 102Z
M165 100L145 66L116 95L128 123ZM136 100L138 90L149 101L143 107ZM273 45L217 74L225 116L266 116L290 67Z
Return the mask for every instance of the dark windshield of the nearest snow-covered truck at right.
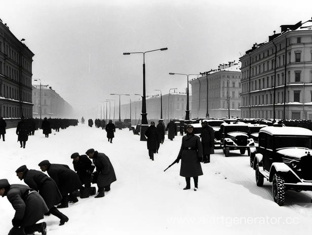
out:
M302 147L311 149L310 136L275 136L275 149Z

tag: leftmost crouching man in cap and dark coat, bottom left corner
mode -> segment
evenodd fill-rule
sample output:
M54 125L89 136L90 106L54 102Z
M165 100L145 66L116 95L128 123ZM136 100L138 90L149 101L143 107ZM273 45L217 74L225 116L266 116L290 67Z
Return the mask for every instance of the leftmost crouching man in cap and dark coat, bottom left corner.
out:
M9 184L7 179L0 179L0 196L7 196L15 210L9 235L34 232L46 235L46 222L36 224L49 210L39 193L26 185Z

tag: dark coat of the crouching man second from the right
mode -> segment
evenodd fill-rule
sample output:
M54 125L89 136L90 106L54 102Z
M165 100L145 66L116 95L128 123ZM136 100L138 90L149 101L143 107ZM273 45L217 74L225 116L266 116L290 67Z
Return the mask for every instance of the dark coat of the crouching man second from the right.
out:
M79 176L81 184L88 184L92 182L92 172L95 166L92 165L92 162L87 155L79 156L79 161L77 162L73 160L73 165L74 170Z

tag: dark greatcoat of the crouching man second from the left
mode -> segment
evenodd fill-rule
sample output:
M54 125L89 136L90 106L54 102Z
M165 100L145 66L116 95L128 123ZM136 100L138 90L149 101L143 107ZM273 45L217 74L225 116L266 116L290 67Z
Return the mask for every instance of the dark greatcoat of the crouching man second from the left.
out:
M61 201L62 195L55 181L41 171L26 169L23 179L30 188L39 192L49 209Z

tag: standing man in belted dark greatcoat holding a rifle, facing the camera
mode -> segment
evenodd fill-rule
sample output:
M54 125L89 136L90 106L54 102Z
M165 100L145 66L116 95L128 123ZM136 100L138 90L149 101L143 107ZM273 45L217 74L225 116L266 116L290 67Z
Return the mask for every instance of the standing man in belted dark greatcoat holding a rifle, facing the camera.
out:
M194 179L194 191L198 189L198 176L202 175L202 143L193 133L193 126L187 125L187 134L182 137L182 145L177 160L181 159L180 176L185 177L186 187L190 189L191 177Z

